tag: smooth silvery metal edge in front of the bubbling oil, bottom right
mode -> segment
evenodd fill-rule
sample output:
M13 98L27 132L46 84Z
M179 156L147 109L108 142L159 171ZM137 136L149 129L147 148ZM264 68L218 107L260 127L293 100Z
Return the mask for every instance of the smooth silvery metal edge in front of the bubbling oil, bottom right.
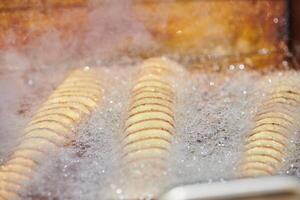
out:
M175 187L159 200L296 200L300 199L300 180L289 176L246 178L228 182Z

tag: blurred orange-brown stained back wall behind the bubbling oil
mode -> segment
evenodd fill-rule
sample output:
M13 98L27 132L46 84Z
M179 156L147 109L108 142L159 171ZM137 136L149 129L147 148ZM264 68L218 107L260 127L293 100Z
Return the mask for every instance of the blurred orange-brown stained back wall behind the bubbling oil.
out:
M249 57L252 68L271 68L288 46L299 54L297 8L295 0L2 0L0 49L42 63L168 55L183 64Z

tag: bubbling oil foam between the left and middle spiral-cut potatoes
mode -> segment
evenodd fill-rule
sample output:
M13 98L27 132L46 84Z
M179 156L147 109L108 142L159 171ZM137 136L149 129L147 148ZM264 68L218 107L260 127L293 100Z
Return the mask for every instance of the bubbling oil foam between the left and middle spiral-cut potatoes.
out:
M119 135L131 87L131 69L102 69L104 97L99 109L76 130L77 138L40 168L27 199L97 199L114 185L120 166ZM103 191L102 196L105 194Z

